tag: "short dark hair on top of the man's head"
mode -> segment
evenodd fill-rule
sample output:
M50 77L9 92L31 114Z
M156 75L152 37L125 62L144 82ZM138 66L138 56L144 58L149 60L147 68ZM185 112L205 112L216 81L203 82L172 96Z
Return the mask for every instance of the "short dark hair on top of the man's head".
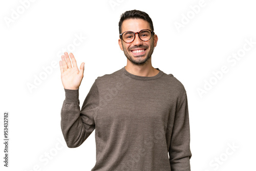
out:
M121 34L121 27L122 27L123 21L125 19L130 19L130 18L144 19L150 24L150 29L154 30L152 19L150 18L150 16L147 13L145 13L143 11L139 11L139 10L131 10L131 11L125 11L124 13L122 13L119 23L118 23L119 34ZM153 34L154 34L154 32L153 32Z

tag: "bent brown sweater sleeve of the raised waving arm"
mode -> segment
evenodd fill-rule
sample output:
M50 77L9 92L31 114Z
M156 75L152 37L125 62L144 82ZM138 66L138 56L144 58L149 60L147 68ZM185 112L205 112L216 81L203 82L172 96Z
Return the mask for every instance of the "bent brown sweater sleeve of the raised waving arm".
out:
M80 110L79 88L65 90L65 100L61 108L61 131L70 148L80 146L94 131L94 115L98 108L98 89L96 80L93 83Z

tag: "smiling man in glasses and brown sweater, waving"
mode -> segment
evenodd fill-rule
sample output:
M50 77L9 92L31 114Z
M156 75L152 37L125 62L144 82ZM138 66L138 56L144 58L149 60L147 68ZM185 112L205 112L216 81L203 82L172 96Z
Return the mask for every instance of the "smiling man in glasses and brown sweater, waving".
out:
M186 91L172 74L152 67L158 37L151 18L142 11L126 11L119 33L127 65L97 77L81 110L78 91L84 63L79 71L72 53L73 67L67 52L61 56L66 94L61 130L68 147L78 147L95 130L92 170L190 170Z

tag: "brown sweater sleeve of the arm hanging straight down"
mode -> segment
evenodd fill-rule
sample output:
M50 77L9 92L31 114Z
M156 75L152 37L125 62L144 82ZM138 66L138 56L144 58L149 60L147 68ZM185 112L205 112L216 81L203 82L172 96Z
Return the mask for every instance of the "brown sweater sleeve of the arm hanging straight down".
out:
M187 95L184 93L181 104L177 105L172 139L169 147L169 161L172 171L190 171L190 133Z

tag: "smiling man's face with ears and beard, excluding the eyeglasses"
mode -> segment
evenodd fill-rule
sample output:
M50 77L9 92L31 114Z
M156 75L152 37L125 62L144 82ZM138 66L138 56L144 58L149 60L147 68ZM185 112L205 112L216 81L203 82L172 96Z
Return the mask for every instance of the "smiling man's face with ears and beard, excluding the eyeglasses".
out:
M122 33L125 31L133 31L139 32L142 29L149 29L150 25L144 19L125 19L122 23L121 31ZM151 58L153 54L154 47L157 45L157 35L152 36L148 41L142 41L139 38L138 34L135 34L135 39L130 44L118 40L118 44L120 49L123 50L124 55L127 59L129 59L134 65L144 65L148 59Z

